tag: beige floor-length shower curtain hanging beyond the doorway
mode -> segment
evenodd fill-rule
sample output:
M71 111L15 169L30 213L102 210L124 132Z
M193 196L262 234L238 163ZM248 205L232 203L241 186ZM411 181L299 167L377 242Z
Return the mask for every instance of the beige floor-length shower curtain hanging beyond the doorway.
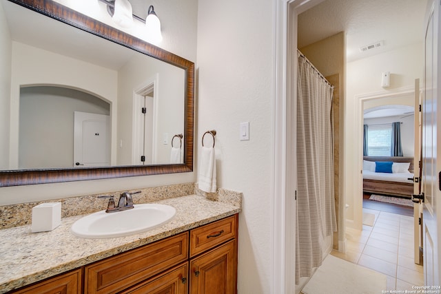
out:
M333 87L298 52L296 284L323 260L336 231Z

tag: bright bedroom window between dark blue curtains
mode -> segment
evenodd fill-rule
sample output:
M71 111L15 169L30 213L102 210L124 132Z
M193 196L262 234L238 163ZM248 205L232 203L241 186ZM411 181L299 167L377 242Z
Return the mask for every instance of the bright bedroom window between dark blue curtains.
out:
M369 125L367 134L369 156L391 156L391 125Z

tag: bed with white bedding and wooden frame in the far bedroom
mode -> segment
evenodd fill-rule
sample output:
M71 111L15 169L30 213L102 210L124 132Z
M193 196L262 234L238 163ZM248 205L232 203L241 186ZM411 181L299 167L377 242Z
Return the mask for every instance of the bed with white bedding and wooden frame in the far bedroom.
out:
M396 162L393 165L393 173L376 172L375 162ZM409 165L409 169L406 169L407 165ZM411 198L411 194L413 194L413 157L364 156L363 191Z

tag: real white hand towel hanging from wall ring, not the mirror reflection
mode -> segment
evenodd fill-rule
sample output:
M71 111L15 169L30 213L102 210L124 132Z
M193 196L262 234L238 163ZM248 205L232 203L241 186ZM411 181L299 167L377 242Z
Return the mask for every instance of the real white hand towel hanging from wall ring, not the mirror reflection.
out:
M216 192L216 156L213 147L202 147L199 165L199 189L205 192Z

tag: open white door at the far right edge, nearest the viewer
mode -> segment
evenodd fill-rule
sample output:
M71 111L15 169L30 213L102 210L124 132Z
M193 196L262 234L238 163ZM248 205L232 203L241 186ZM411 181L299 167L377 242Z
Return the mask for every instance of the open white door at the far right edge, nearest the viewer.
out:
M440 32L439 10L440 0L429 0L430 14L426 21L425 34L425 65L424 65L424 95L422 98L422 193L424 195L422 233L424 251L424 284L427 286L439 286L440 279L440 245L438 241L441 227L438 222L440 211L441 194L438 189L438 171L441 170L441 162L437 160L438 147L438 103L440 87L438 78L439 45L438 34ZM441 138L441 136L440 136Z

